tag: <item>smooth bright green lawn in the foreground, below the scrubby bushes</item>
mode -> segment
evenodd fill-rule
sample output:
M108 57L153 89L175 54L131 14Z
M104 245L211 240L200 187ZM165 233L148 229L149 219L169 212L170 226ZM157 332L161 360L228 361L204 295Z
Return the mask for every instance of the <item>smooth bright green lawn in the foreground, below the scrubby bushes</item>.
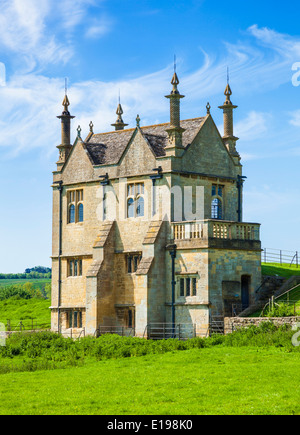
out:
M0 414L300 414L300 353L175 351L0 375Z

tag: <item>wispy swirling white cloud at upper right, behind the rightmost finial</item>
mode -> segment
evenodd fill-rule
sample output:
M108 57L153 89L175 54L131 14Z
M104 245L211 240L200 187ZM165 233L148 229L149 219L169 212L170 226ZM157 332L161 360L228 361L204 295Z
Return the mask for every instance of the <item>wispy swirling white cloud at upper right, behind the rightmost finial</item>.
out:
M292 81L292 65L300 58L300 38L257 25L249 27L246 36L247 41L225 42L221 56L212 56L200 47L202 67L182 80L192 89L193 98L224 91L227 67L234 95L265 92Z

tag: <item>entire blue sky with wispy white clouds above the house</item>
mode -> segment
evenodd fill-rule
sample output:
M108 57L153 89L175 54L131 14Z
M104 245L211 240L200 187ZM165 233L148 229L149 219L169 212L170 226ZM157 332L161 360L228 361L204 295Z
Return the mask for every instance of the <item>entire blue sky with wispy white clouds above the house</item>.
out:
M51 180L60 143L64 78L83 134L115 121L167 122L173 56L182 118L207 101L222 132L230 68L243 157L244 220L264 247L299 250L299 3L212 0L0 0L0 272L50 265ZM299 79L300 81L300 79ZM4 85L5 84L5 85Z

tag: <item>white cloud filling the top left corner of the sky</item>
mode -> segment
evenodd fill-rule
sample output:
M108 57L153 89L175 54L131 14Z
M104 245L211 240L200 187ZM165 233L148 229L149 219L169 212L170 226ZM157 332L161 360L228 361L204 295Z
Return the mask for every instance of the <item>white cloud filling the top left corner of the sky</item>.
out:
M95 5L99 6L99 2L2 0L0 47L14 61L18 59L19 71L37 72L51 63L65 64L75 52L72 34L76 26L84 23L88 8ZM99 19L94 34L101 36L101 32L108 31L109 24L109 20L100 23Z

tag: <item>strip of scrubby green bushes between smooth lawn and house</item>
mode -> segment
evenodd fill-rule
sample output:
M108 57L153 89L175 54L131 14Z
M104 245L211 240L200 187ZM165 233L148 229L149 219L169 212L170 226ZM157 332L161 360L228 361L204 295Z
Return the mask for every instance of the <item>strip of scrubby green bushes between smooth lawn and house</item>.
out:
M223 347L275 346L287 351L298 351L292 345L294 332L288 326L276 327L270 322L251 326L233 334L210 338L193 338L187 341L144 340L134 337L104 335L100 338L85 337L80 340L63 338L51 333L18 333L7 339L0 348L0 373L66 368L84 364L85 360L108 360L139 357L148 354Z

